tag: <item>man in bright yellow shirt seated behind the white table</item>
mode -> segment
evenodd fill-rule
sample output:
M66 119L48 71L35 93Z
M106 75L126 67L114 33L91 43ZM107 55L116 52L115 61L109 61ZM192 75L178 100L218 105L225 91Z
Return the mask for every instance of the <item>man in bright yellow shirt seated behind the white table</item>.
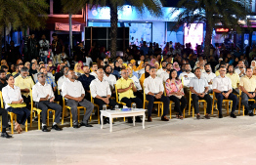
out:
M129 73L127 69L122 69L121 76L116 82L116 88L119 95L119 102L126 103L126 106L131 107L131 103L136 103L137 108L143 108L142 100L134 96L137 91L132 79L128 78ZM132 123L131 117L128 118L128 123ZM142 122L140 116L136 117L136 122Z

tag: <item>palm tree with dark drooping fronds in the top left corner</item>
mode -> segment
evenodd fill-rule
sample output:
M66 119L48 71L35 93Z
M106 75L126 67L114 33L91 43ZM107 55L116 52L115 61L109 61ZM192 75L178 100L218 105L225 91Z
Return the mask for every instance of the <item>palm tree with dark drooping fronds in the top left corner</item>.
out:
M45 0L0 0L0 46L6 26L13 29L42 28L47 19L49 5ZM2 50L0 51L0 55Z

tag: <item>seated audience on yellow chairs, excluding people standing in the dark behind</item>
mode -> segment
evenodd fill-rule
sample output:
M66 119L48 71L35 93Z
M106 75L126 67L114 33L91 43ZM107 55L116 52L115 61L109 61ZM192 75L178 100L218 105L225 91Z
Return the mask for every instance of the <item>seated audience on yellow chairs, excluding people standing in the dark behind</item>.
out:
M140 61L131 59L130 62L124 62L121 57L116 57L111 62L106 57L104 62L94 62L91 66L80 61L74 62L72 66L61 62L54 67L51 61L37 63L32 60L31 63L23 64L19 60L14 70L9 69L7 62L2 60L0 90L4 106L0 108L3 127L1 137L12 137L6 132L9 127L8 114L11 112L17 115L14 129L18 133L22 132L21 125L26 122L40 120L42 131L49 132L49 110L54 111L52 129L62 131L58 124L61 119L64 120L65 107L70 110L73 128L93 127L89 122L95 105L99 106L99 110L95 111L99 119L100 110L105 104L110 109L124 104L131 107L132 103L136 103L137 108L146 108L145 101L148 101L149 122L152 121L151 114L157 110L158 114L161 113L162 121L169 121L167 114L171 112L172 103L176 118L184 119L185 109L188 106L191 109L192 103L196 118L201 119L200 100L207 104L204 116L206 119L210 119L213 112L214 100L219 118L223 117L222 104L226 100L232 101L231 117L236 117L235 109L239 100L245 107L245 113L254 115L256 103L249 101L256 100L255 67L245 66L243 60L238 61L236 66L219 59L219 63L214 65L201 56L192 65L186 58L181 63L179 57L163 55L162 58L156 58L142 55ZM255 61L251 63L255 66ZM215 73L212 71L214 68ZM154 103L162 103L161 108L155 108ZM31 104L41 110L40 118L37 118L40 116L37 114L32 120ZM80 107L85 110L81 121L78 113ZM107 124L109 119L106 117L103 122ZM142 122L140 116L136 117L136 122ZM128 118L128 123L133 123L131 117Z

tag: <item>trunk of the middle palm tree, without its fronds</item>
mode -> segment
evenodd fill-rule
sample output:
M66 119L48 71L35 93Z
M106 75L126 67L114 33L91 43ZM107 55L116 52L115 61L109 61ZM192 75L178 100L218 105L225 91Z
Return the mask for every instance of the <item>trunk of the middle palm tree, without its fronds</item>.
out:
M110 56L111 59L116 58L116 38L117 38L117 5L110 4L110 38L111 38L111 45L110 45Z

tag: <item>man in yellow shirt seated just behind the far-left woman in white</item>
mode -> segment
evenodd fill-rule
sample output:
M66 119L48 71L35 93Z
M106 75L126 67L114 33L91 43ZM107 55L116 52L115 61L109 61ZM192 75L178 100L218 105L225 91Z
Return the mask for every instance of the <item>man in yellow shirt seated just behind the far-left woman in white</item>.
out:
M34 82L30 76L28 76L28 68L22 67L21 74L15 78L15 86L20 87L21 97L23 102L26 103L26 107L30 109L30 90L34 86Z

